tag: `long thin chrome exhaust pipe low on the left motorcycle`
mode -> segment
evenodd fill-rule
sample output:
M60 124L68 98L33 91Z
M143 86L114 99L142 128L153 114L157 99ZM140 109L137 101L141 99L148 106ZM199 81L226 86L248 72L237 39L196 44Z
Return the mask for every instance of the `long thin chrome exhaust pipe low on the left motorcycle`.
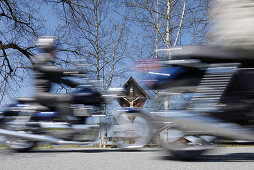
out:
M54 138L50 136L23 133L23 132L17 132L17 131L6 130L6 129L0 129L0 135L15 137L15 138L22 138L22 139L27 139L30 141L49 142L53 144L77 144L77 145L91 144L91 142L66 141L66 140L62 140L62 139L58 139L58 138Z

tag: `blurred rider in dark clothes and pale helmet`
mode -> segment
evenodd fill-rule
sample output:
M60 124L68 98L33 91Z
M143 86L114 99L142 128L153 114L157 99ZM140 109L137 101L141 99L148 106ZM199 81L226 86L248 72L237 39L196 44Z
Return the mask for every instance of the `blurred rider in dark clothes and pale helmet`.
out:
M64 84L74 88L78 83L65 77L77 74L78 72L53 65L56 54L54 37L40 37L36 41L36 46L42 52L35 56L33 64L37 100L41 105L56 109L60 114L61 121L69 122L67 116L72 115L72 109L70 108L72 96L69 94L52 93L52 84Z

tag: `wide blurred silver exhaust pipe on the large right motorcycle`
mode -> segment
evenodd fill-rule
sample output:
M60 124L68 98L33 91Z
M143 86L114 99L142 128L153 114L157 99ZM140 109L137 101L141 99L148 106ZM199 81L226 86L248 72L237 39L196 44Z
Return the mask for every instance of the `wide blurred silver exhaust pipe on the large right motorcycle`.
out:
M186 134L202 134L254 141L254 132L237 124L222 122L218 119L198 115L188 111L153 112L154 115L169 121L173 128Z

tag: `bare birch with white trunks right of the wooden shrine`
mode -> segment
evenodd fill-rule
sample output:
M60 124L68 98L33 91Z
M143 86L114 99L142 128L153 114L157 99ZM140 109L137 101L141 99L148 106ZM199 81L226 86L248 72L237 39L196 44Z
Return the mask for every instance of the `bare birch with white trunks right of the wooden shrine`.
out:
M151 56L158 48L170 48L177 45L202 44L206 41L207 15L209 0L126 0L126 6L133 13L131 20L140 25L147 48L143 48ZM155 53L158 58L158 52ZM169 58L170 59L170 58ZM169 108L169 97L159 97L155 92L156 109ZM167 132L164 137L167 138Z

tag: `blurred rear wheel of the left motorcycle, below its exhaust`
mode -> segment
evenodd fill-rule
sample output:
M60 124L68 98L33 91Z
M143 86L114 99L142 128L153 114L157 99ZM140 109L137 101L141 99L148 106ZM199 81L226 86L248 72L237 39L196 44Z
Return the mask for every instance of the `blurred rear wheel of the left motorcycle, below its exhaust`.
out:
M36 142L26 139L7 137L6 146L17 152L28 152L36 146Z

